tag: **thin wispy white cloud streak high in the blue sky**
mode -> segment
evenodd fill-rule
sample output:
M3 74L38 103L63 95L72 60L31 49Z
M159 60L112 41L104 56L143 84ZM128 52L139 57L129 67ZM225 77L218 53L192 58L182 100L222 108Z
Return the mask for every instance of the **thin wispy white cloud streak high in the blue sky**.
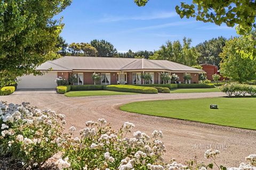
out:
M125 20L155 20L155 19L167 19L178 16L175 12L154 12L150 14L143 14L140 16L106 16L99 20L99 22L117 22Z

